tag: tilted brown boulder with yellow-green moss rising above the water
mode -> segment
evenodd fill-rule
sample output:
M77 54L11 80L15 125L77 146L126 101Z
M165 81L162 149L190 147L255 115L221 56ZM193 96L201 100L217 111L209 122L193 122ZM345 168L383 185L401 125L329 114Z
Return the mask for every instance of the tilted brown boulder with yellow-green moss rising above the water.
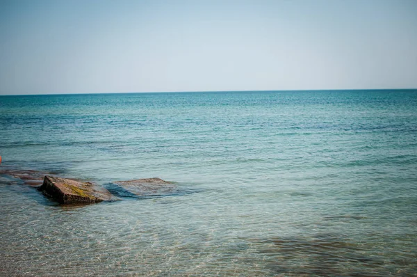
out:
M61 204L98 203L104 200L114 200L112 194L103 187L90 182L78 182L61 177L45 176L40 191Z

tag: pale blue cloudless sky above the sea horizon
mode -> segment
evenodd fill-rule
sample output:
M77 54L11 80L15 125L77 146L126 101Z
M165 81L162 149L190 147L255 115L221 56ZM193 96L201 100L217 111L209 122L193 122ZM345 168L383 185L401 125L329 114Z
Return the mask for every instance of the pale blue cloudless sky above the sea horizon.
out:
M417 88L416 0L0 0L0 95Z

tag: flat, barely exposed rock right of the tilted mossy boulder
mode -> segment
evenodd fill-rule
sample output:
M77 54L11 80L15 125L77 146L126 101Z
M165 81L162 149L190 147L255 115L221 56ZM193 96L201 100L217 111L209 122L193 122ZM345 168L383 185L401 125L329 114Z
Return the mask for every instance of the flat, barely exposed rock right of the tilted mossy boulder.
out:
M171 182L164 181L160 178L148 178L129 181L113 182L137 196L154 196L160 194L172 193L176 186Z

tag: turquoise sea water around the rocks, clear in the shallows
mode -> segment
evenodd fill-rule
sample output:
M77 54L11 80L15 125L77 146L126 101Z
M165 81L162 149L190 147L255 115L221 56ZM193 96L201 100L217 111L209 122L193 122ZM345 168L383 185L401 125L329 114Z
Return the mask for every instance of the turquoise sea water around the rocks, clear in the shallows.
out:
M2 96L0 155L179 188L68 207L3 175L1 275L417 274L417 90Z

